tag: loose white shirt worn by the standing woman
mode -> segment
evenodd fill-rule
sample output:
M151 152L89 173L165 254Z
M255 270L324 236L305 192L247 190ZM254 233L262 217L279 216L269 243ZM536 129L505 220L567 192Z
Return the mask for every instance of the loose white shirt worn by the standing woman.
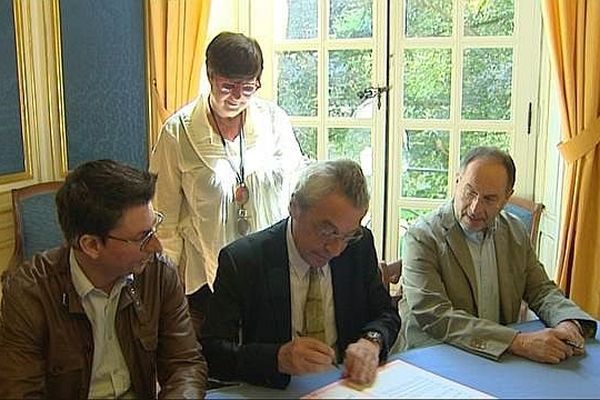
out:
M158 173L154 209L165 214L158 236L165 253L179 266L187 294L212 286L219 251L238 239L238 207L233 201L239 172L239 136L227 143L211 127L208 100L200 96L163 126L150 158ZM288 215L290 192L304 159L285 112L252 97L244 131L245 183L250 199L250 232Z

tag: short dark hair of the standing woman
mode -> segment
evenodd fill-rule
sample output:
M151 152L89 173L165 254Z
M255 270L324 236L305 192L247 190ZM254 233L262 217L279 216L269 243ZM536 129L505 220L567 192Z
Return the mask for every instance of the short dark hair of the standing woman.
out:
M262 50L255 39L241 33L221 32L206 48L206 72L230 79L256 78L263 70Z

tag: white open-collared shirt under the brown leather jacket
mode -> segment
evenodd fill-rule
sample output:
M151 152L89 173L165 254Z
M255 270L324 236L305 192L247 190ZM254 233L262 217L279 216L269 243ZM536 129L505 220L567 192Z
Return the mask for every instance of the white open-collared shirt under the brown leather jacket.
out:
M113 286L110 294L96 289L77 263L73 251L69 256L71 277L75 291L92 326L94 358L90 378L89 398L116 398L124 395L131 386L129 369L115 331L115 316L121 289L129 275Z

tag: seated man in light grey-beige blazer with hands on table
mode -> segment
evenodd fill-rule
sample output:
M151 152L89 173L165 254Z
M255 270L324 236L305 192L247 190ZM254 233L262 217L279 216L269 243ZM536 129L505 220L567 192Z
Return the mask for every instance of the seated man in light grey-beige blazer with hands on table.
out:
M461 163L454 198L409 229L404 349L446 342L495 360L513 353L545 363L583 354L596 322L548 278L524 225L501 211L514 182L508 154L475 148ZM517 322L522 299L548 328L506 326Z

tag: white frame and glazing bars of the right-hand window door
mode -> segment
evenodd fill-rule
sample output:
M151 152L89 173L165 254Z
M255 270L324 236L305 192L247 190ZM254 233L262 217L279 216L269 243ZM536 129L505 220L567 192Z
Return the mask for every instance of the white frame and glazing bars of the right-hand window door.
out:
M460 1L459 1L460 2ZM390 135L389 168L392 171L402 170L401 150L404 135L399 134L405 129L443 129L451 132L468 130L469 127L489 128L493 130L506 130L514 132L511 138L511 154L517 167L517 181L515 193L519 196L532 198L535 184L536 157L528 157L536 153L537 131L536 119L538 113L538 86L540 70L541 49L541 9L538 2L515 0L515 30L512 37L495 39L495 43L482 37L462 37L463 13L460 7L454 8L453 35L448 38L403 38L404 31L404 2L391 2L391 21L400 21L400 24L390 24L390 74L392 76L392 90L390 91ZM458 40L460 38L460 40ZM526 38L526 40L519 40ZM462 82L462 56L463 50L469 47L513 47L513 92L511 103L512 119L509 121L460 121L461 82ZM450 48L452 49L452 81L451 81L451 112L449 120L403 120L403 85L402 69L404 60L402 51L414 47ZM457 59L459 62L457 62ZM526 65L526 61L531 61ZM529 103L531 117L529 114ZM528 119L530 121L527 133ZM474 129L475 130L475 129ZM448 165L448 184L450 193L453 192L455 176L458 172L459 157L458 140L450 140L450 160ZM386 226L386 259L394 260L399 257L398 243L401 235L399 227L400 208L435 208L446 200L433 199L402 199L401 180L397 174L390 174L388 179L389 195L387 202Z

